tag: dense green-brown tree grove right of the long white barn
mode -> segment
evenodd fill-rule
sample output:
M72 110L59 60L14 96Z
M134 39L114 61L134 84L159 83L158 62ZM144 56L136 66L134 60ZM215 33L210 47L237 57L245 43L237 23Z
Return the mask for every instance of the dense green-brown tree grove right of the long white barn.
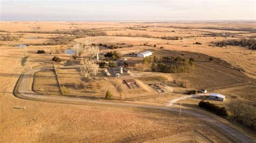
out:
M170 65L167 65L163 62L173 62ZM151 70L155 72L164 72L164 73L186 73L194 70L196 66L191 59L187 60L180 57L163 57L162 61L155 61L152 63Z

